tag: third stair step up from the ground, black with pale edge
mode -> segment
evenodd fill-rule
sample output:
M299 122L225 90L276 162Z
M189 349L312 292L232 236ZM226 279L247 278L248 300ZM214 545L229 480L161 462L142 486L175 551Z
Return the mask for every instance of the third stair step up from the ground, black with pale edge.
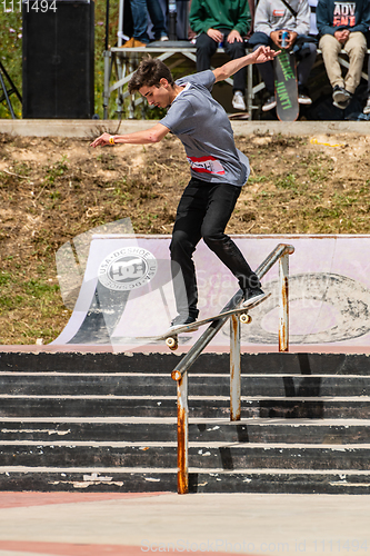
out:
M177 441L176 417L0 418L0 440ZM191 441L361 444L370 443L369 419L190 419Z

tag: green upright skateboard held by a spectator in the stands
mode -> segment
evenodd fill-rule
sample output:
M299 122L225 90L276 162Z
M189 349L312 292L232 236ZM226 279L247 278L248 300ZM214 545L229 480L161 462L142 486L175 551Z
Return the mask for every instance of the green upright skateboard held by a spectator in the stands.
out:
M296 121L299 116L296 57L287 49L273 59L274 96L280 121Z

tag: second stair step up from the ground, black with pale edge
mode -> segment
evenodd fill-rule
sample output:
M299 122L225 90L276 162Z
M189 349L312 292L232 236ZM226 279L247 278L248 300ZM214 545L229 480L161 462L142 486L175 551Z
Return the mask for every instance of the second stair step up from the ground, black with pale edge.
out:
M0 443L1 463L7 466L96 466L177 468L176 441L9 441ZM369 468L370 444L224 444L189 443L189 465L222 469L361 469Z

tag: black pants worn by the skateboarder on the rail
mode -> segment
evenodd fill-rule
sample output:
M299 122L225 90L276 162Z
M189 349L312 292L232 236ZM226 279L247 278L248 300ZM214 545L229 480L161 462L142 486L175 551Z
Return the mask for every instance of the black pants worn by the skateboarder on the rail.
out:
M180 315L198 317L198 288L192 254L203 238L239 280L242 289L259 286L239 248L224 234L241 188L230 183L208 183L191 178L181 197L172 232L171 269L177 309Z

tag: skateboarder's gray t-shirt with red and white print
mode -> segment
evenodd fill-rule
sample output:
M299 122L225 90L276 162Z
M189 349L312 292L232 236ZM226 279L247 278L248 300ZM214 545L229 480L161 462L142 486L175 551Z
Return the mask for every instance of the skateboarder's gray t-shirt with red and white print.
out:
M237 149L229 118L210 92L213 83L211 70L178 79L176 85L186 87L160 122L182 142L193 177L241 187L249 161Z

